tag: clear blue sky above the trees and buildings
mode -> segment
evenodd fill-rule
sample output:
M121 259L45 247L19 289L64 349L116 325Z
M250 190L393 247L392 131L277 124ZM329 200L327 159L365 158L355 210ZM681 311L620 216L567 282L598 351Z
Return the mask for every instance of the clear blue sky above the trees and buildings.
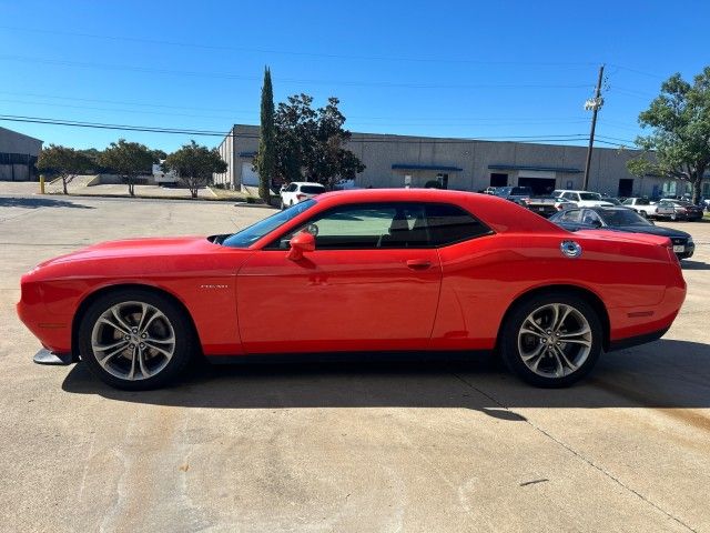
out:
M704 1L0 1L0 114L226 132L276 101L341 99L352 131L633 139L663 79L710 64ZM47 143L194 138L0 121ZM584 144L586 141L577 141ZM613 142L611 140L611 142Z

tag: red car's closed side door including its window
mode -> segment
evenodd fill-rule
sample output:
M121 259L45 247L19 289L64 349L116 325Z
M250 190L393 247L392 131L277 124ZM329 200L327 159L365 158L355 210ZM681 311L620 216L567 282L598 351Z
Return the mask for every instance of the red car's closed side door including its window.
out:
M423 217L416 203L341 205L254 253L237 273L244 350L426 346L442 268L415 228ZM290 260L288 241L304 230L315 235L316 248Z

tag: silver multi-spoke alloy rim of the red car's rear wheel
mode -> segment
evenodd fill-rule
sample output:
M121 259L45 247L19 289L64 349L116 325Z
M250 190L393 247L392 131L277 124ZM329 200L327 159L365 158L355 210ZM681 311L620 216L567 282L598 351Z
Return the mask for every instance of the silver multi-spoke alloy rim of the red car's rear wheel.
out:
M571 305L548 303L532 311L518 331L520 359L542 378L564 378L591 352L589 322Z

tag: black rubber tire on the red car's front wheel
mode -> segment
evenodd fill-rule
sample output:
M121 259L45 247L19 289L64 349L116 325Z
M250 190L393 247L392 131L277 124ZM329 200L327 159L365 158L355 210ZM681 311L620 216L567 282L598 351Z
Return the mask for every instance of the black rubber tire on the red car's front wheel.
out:
M141 309L141 304L145 304L146 308L144 309L149 310L149 312L145 313L146 316L150 318L152 315L151 313L153 313L158 318L152 319L145 326L145 335L148 335L145 346L148 348L139 349L139 342L140 345L143 346L143 341L140 339L140 331L133 334L129 331L124 336L123 325L140 325L135 323L138 321L135 316L138 310ZM110 313L112 309L121 310L119 311L120 314L122 312L129 313L121 316L122 322L113 320L115 324L120 323L120 329L108 325L104 321L100 321L102 315L105 316L104 313ZM136 310L136 312L130 314L130 311L133 310ZM158 312L154 312L154 310L158 310ZM129 328L129 330L133 329L138 330L138 328ZM159 329L159 332L163 332L163 334L166 332L169 336L163 335L163 339L159 340L158 336L160 335L158 335L156 339L153 340L150 335L154 335L156 329ZM104 365L99 363L97 353L94 353L94 333L97 334L97 348L100 348L100 345L111 345L113 341L121 344L128 342L129 345L113 356L109 355L112 353L112 350L106 349L105 352L108 352L108 355L102 358L102 361L110 360L110 362L104 363ZM113 336L109 336L106 340L106 335L111 334L113 334ZM134 338L132 336L131 340L128 340L131 334ZM99 344L99 340L101 344ZM174 342L170 342L170 340L174 340ZM79 325L81 359L87 363L89 370L104 383L115 389L126 391L159 389L173 382L193 358L195 346L196 343L192 323L182 308L168 296L140 289L116 290L115 292L100 296L87 309ZM161 350L170 350L170 348L172 348L172 355L170 358L165 356L163 354L164 351L161 353L158 350L159 348ZM121 346L119 345L119 350L120 349ZM138 350L140 350L140 356L136 356ZM141 363L144 363L144 365L136 365L136 358ZM150 374L151 363L154 364L152 369L155 371L154 374ZM140 369L138 369L138 366L140 366ZM122 378L121 375L115 375L121 374L123 371L130 371L131 368L138 369L136 372L133 372L133 378L129 379L129 376ZM146 370L145 374L141 372L143 369ZM136 376L136 373L140 373L140 376ZM129 375L131 375L131 372L129 372Z

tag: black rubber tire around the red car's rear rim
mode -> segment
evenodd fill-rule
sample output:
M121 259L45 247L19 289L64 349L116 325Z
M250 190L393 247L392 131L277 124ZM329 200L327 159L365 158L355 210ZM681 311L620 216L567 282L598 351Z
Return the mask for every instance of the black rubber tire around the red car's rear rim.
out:
M539 315L541 319L545 319L546 315L549 314L551 318L554 316L555 305L561 310L567 310L568 308L574 310L574 312L570 311L564 325L560 326L562 335L571 335L571 333L566 332L566 329L574 328L576 323L579 328L577 331L584 331L586 329L584 321L586 321L588 325L589 333L585 334L584 339L570 336L570 341L566 343L564 336L555 336L555 328L548 330L544 321L540 322L540 325L545 331L541 333L536 332L535 334L526 333L534 329L528 321L530 316ZM564 312L558 313L558 315L559 314L564 314ZM523 328L524 323L527 325L525 329ZM551 335L547 334L549 331L552 332ZM506 366L508 366L514 374L531 385L540 388L569 386L585 378L599 360L604 340L602 331L601 321L597 312L582 298L567 292L538 294L523 300L516 304L508 314L500 334L500 355ZM586 351L587 346L577 344L572 339L581 339L584 342L589 342L588 352ZM536 344L538 342L540 345ZM552 346L551 342L555 342L556 346ZM542 343L545 344L542 345ZM531 370L528 363L524 361L523 352L528 345L530 346L528 354L537 352L538 349L542 351L539 361L538 358L530 358L530 364L538 361L537 372ZM565 352L565 350L567 350L567 352ZM560 351L565 356L560 358L556 355L556 353ZM575 358L578 358L578 360ZM568 360L572 363L570 366L566 366L565 364ZM579 363L578 365L574 364L577 362ZM550 372L552 368L561 368L561 375L549 375L549 373L546 372L548 366Z

